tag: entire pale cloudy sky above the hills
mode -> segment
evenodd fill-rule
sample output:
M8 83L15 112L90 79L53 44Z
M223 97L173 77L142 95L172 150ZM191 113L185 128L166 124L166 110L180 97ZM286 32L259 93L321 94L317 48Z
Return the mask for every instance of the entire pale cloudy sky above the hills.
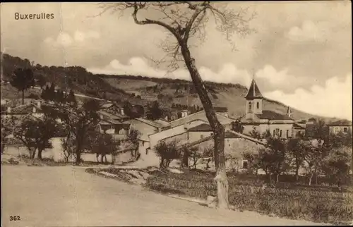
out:
M201 77L246 87L255 78L269 99L352 120L351 2L227 4L234 11L245 7L256 12L249 22L255 31L234 34L237 51L213 20L207 23L205 42L191 49ZM95 3L1 4L1 51L47 66L83 66L92 73L190 78L184 68L167 73L150 61L162 59L165 30L136 25L131 12L97 16L101 11ZM53 13L54 19L16 20L16 13Z

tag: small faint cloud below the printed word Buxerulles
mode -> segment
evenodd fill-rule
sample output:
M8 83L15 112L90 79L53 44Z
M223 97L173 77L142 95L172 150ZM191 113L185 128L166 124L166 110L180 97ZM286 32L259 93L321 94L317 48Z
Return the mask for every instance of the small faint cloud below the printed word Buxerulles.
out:
M89 39L99 39L100 33L95 31L87 31L81 32L76 31L73 36L69 35L66 32L61 32L59 35L54 39L53 37L47 37L44 39L44 42L47 44L52 44L54 46L61 46L61 47L69 47L73 44L78 44L80 42L85 42Z

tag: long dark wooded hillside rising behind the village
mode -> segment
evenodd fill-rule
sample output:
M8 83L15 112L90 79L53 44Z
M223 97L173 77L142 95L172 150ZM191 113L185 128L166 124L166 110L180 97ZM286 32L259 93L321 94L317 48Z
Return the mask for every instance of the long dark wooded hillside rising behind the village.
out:
M13 70L18 67L30 67L35 73L35 78L43 77L47 82L54 82L60 89L72 89L77 94L100 97L116 102L128 100L131 104L145 106L149 102L158 100L164 108L171 109L174 104L186 106L201 106L195 88L186 80L173 80L169 78L148 78L140 75L95 75L80 66L41 66L30 63L28 59L20 59L9 54L4 54L1 61L1 80L10 79ZM205 82L205 87L210 92L214 106L228 108L229 116L238 118L244 115L247 88L241 85ZM26 96L38 93L38 90L28 90ZM1 85L2 98L18 98L20 94L11 85ZM287 106L280 102L265 99L263 109L273 110L285 114ZM174 109L174 111L177 111ZM295 119L320 118L303 111L292 109ZM328 120L328 118L326 118Z

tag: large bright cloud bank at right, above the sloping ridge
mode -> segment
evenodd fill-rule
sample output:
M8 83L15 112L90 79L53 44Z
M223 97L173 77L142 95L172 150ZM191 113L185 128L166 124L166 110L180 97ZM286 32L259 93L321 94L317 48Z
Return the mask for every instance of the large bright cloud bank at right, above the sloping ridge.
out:
M264 96L310 114L352 120L352 74L346 75L343 81L337 77L330 78L323 87L298 88L292 94L275 90L265 92Z

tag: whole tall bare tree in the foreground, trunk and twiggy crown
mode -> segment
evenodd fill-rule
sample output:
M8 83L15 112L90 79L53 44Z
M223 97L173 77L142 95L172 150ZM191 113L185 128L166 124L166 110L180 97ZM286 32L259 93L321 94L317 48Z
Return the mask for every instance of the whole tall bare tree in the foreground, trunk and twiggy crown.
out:
M224 7L222 7L224 6ZM195 59L191 56L190 39L203 42L206 36L206 25L210 18L215 21L217 30L225 35L226 39L232 41L232 35L247 35L251 32L247 10L230 10L224 3L210 3L210 1L170 1L170 2L121 2L102 4L104 13L112 11L124 13L131 10L133 20L138 25L158 25L167 30L168 37L164 39L161 48L167 54L160 61L169 60L169 68L178 68L179 62L184 62L191 75L191 80L196 88L198 97L201 99L205 115L208 118L214 133L215 150L214 159L217 174L217 207L228 208L228 181L225 170L225 128L218 121L213 104L208 96L205 84L201 78ZM150 18L139 19L138 14L148 13Z

